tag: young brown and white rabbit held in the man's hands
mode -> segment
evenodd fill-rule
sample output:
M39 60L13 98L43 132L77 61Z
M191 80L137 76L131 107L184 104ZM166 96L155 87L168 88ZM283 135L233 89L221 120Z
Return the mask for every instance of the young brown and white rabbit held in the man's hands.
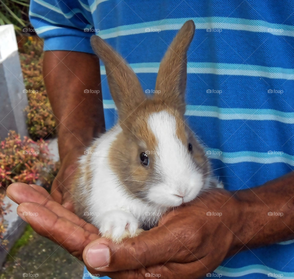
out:
M77 215L115 243L152 228L168 210L216 186L209 160L183 119L194 31L194 22L187 21L173 39L152 98L123 58L99 36L91 37L119 120L81 156L71 192Z

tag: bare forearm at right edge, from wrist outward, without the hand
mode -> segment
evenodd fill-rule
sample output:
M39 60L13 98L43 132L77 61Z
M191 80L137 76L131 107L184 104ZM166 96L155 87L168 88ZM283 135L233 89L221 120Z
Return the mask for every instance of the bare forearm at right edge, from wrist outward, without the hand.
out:
M237 191L242 224L230 254L294 238L294 172L247 190Z

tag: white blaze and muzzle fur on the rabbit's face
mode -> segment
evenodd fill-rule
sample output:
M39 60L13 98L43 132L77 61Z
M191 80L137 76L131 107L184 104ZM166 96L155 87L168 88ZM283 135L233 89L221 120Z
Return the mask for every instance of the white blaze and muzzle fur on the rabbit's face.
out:
M163 180L149 190L150 202L173 207L193 200L204 186L203 176L188 151L188 143L183 144L176 135L175 117L167 111L155 112L148 124L158 142L153 152L155 170Z

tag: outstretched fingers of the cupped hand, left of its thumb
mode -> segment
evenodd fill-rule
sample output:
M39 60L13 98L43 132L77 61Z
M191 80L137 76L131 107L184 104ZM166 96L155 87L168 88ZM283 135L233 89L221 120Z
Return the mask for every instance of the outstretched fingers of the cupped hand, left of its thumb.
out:
M86 243L100 237L95 226L55 202L43 187L13 183L7 188L6 194L20 204L17 214L34 231L58 243L80 260Z

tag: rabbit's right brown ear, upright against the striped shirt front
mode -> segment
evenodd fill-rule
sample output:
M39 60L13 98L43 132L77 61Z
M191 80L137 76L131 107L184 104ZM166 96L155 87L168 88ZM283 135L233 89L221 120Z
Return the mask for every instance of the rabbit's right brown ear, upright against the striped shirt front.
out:
M171 42L162 59L156 79L154 99L185 113L185 89L187 80L187 50L193 39L195 25L185 22Z

